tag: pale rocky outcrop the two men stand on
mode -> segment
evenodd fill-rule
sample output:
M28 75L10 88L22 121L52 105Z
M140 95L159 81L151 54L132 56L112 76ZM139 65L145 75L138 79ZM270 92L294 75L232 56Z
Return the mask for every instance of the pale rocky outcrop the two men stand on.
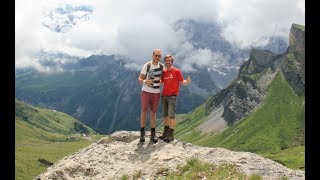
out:
M201 147L177 140L153 144L147 138L147 142L140 143L138 137L137 131L115 132L61 159L36 179L121 179L123 175L132 177L139 171L141 179L155 179L159 169L173 171L192 157L209 163L233 163L239 171L259 174L263 179L305 178L303 171L286 168L250 152Z

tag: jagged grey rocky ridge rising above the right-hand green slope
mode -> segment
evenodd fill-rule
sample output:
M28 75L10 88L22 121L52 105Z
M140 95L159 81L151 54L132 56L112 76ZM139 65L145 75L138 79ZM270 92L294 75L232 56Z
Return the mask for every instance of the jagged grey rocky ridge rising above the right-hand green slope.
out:
M304 27L293 24L287 52L274 54L253 49L250 58L240 67L238 77L207 101L207 121L223 120L226 127L247 116L259 107L266 95L266 88L278 72L284 75L297 94L304 94L304 36ZM222 113L214 113L221 107Z

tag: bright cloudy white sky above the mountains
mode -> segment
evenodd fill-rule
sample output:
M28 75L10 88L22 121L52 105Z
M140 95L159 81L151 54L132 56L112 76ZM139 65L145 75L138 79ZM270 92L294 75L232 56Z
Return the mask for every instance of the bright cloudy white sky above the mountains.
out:
M292 23L305 25L305 1L16 0L15 66L41 69L38 55L44 51L80 58L116 54L138 69L155 48L188 54L181 62L188 62L186 70L192 71L190 63L227 66L227 55L186 41L188 34L172 26L180 19L219 23L228 42L248 48L266 36L288 37Z

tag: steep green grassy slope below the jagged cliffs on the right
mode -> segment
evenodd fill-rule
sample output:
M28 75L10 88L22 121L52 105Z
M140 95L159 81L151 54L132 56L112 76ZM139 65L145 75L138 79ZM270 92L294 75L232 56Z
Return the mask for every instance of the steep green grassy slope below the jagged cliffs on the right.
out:
M176 138L202 146L255 152L293 169L303 169L304 103L304 96L296 95L278 74L269 85L262 106L243 120L217 134L206 135L193 127L205 119L203 115L196 116L195 111L177 123L177 127L184 127L183 122L189 118L190 122L185 123L191 124L193 130L189 133L177 131ZM186 134L193 137L189 140ZM280 159L281 154L285 159Z

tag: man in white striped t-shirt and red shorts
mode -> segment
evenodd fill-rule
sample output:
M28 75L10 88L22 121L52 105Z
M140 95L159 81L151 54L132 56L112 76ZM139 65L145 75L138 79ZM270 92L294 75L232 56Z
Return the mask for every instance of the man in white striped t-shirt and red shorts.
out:
M140 142L145 141L145 126L147 112L150 108L150 141L158 142L156 136L156 113L160 101L160 79L163 69L163 64L160 62L162 52L160 49L155 49L152 53L152 61L143 65L138 81L143 84L141 91L141 115L140 115Z

